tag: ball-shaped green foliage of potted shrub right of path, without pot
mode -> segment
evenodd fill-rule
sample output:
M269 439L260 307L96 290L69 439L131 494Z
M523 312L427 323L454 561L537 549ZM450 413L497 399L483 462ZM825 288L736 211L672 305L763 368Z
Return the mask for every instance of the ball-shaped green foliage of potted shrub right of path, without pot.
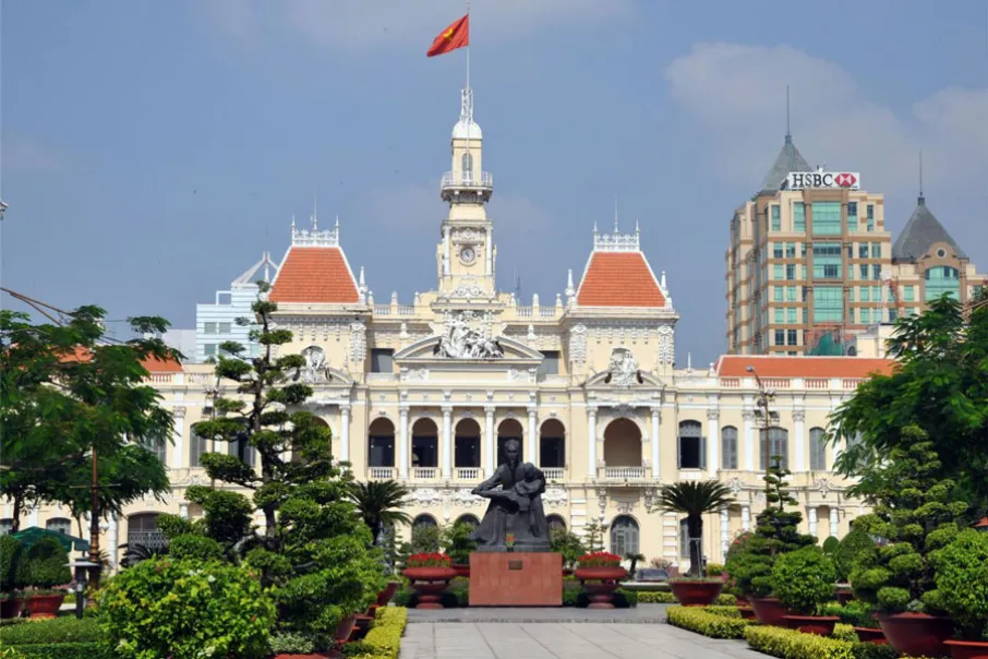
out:
M833 597L836 576L830 556L811 544L775 559L772 592L786 609L799 615L817 615Z

